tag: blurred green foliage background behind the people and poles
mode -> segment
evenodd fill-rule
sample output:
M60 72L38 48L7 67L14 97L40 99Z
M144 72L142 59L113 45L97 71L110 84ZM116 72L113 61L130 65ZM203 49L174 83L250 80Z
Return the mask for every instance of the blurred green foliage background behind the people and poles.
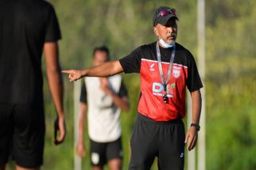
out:
M63 69L91 66L95 46L110 47L121 59L135 47L156 40L152 13L157 6L173 6L180 21L177 41L197 55L196 1L51 0L63 39ZM209 170L256 169L256 1L206 1L206 164ZM129 89L131 109L122 112L124 168L130 159L130 134L137 114L140 80L122 75ZM42 169L73 168L73 85L64 77L64 107L68 135L53 145L56 112L45 81L45 164ZM77 107L77 106L76 106ZM88 138L85 137L88 147ZM83 169L90 169L89 157ZM152 169L157 169L156 164Z

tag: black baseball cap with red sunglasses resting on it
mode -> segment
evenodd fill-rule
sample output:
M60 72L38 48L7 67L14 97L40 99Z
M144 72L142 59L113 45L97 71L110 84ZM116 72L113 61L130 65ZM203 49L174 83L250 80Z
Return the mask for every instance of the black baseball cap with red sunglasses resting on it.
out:
M176 9L168 6L160 6L153 13L153 27L158 23L161 25L166 25L167 21L169 21L171 17L175 17L175 19L179 21L179 18L176 16Z

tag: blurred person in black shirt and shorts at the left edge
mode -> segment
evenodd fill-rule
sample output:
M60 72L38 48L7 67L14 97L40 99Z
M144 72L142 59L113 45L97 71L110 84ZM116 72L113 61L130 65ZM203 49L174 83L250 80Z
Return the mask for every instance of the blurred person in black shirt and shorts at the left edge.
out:
M17 169L39 169L43 164L43 51L57 113L55 143L64 141L63 83L57 44L60 38L56 13L48 2L0 2L0 170L6 168L10 156Z

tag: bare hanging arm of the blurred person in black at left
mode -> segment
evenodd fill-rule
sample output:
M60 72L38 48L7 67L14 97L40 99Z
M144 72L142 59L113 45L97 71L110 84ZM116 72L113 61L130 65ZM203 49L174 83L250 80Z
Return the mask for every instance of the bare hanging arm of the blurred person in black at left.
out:
M57 112L55 122L55 144L64 141L66 134L64 107L63 107L63 83L60 73L60 63L58 59L58 44L56 42L45 43L44 45L46 73L48 77L48 86L52 93L52 99ZM57 130L60 130L57 138Z

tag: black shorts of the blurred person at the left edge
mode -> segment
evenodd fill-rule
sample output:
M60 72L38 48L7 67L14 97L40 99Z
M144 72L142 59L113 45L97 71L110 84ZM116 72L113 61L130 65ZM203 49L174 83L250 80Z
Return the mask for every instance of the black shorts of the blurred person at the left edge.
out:
M43 164L43 104L0 104L0 164L9 158L24 168Z

